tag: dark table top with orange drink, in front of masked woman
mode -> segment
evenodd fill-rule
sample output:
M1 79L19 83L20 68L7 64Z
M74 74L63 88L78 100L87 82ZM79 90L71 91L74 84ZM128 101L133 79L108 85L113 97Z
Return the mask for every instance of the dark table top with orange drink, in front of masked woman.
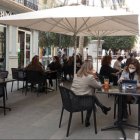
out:
M114 95L135 95L140 96L140 88L137 88L136 90L122 90L119 86L112 86L109 88L108 91L105 91L102 89L97 89L96 93L101 94L114 94Z

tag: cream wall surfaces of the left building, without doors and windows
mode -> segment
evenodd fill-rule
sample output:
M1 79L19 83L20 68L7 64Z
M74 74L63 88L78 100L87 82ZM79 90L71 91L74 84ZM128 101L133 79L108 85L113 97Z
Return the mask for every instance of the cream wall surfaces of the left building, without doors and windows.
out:
M31 1L30 1L31 2ZM37 0L36 0L37 2ZM16 3L16 4L15 4ZM13 6L14 5L14 6ZM24 9L24 10L23 10ZM1 1L0 3L0 16L6 16L10 14L18 14L22 12L33 11L29 7L16 1ZM0 25L2 26L2 25ZM19 52L19 27L5 26L6 27L6 66L5 69L11 74L11 68L19 67L18 52ZM24 33L29 32L31 34L30 43L30 60L36 54L38 54L38 31L22 29ZM26 46L25 46L26 47ZM26 64L24 65L26 66Z

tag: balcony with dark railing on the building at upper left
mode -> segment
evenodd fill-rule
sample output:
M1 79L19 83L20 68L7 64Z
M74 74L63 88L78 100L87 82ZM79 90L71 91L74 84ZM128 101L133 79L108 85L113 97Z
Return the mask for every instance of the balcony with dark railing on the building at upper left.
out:
M14 1L16 1L16 2L18 2L20 4L23 4L24 6L26 6L28 8L31 8L31 9L33 9L35 11L38 10L38 5L30 2L29 0L14 0Z

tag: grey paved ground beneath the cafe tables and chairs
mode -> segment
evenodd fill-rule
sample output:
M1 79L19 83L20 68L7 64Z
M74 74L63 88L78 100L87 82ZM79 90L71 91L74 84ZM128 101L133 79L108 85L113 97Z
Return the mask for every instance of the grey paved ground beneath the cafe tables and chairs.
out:
M97 134L94 133L92 117L91 126L86 128L81 124L81 115L75 113L70 136L66 138L69 113L64 112L62 126L58 128L62 107L59 90L48 94L42 93L37 97L33 92L28 92L25 96L22 91L16 91L16 87L11 93L10 88L11 83L8 83L7 106L11 107L12 111L7 111L7 115L4 116L0 110L0 139L122 139L122 134L117 129L101 131L102 127L112 125L114 122L112 96L108 98L107 95L97 95L103 104L112 107L108 115L104 115L98 108ZM128 121L137 124L137 105L131 105L131 110L132 115ZM140 139L137 129L127 127L125 132L128 140Z

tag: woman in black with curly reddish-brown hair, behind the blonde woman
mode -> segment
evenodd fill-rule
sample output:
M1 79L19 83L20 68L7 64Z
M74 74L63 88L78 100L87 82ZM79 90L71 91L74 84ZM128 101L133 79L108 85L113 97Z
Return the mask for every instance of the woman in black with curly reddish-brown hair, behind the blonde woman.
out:
M107 55L102 59L102 66L100 69L100 75L102 77L109 78L109 82L113 82L113 85L117 85L118 74L121 72L111 67L112 57ZM103 81L102 81L103 82Z

